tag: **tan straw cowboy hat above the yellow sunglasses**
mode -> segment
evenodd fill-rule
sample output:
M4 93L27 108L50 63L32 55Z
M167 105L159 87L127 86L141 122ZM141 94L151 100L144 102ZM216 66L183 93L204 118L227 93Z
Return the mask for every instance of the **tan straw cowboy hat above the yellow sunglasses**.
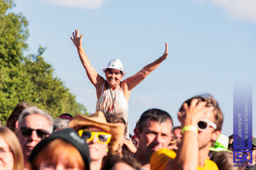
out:
M110 141L110 151L115 152L119 145L119 140L124 135L124 125L122 123L108 123L104 113L101 111L96 111L89 116L84 116L81 114L76 115L69 124L69 127L73 128L75 131L78 131L81 127L84 126L95 126L103 129L106 133L111 134Z

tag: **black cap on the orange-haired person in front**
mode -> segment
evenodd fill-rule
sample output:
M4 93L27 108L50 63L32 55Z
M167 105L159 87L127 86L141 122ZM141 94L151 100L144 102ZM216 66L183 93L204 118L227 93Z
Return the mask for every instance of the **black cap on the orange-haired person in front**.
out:
M33 159L38 155L38 153L45 147L47 144L54 140L54 139L62 139L73 145L75 148L78 149L79 153L81 154L84 163L85 163L85 170L90 170L90 153L89 149L86 144L86 140L80 136L71 128L67 128L61 131L57 131L52 133L50 136L41 140L37 146L32 150L31 155L29 157L29 162L32 163Z

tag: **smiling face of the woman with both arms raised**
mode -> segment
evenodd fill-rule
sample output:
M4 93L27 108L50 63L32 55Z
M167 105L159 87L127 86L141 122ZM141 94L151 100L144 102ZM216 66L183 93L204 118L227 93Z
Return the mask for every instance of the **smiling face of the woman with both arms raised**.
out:
M106 71L106 79L110 86L116 86L122 80L124 75L121 74L120 70L108 69Z

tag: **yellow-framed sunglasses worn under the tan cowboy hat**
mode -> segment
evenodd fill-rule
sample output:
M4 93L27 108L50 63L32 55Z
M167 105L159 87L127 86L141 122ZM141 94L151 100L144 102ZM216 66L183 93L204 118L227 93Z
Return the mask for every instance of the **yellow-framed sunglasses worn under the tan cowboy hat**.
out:
M86 141L93 140L94 136L97 137L98 143L105 144L109 143L111 140L111 134L105 133L105 132L93 132L86 129L80 129L78 130L78 135L80 137L84 137Z

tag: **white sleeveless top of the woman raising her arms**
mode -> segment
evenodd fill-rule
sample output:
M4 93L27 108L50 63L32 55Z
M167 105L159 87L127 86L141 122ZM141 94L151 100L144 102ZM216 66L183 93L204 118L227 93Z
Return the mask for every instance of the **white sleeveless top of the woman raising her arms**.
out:
M115 114L110 89L107 89L103 93L104 87L105 87L105 80L103 82L101 96L97 101L96 111L102 111L103 113L109 112L109 113ZM124 118L125 122L128 123L128 103L124 97L123 89L120 90L118 88L116 90L112 90L112 96L115 104L116 114L119 113Z

